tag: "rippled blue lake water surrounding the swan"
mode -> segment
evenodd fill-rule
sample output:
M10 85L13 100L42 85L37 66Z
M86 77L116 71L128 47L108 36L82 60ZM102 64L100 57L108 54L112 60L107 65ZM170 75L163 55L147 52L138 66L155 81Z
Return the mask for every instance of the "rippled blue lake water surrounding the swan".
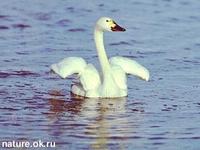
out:
M198 150L198 0L7 0L0 4L0 139L55 141L56 149ZM123 99L77 99L50 73L64 57L98 66L93 27L110 16L108 55L137 60L150 82L128 78Z

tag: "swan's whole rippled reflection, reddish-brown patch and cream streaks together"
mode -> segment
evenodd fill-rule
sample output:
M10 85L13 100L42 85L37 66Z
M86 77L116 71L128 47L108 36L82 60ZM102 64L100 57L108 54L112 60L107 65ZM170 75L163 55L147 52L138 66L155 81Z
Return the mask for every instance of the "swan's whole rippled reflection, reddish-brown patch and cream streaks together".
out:
M77 140L80 142L78 144L81 144L84 138L86 141L89 139L90 148L95 150L109 149L108 145L125 149L123 140L130 133L127 131L128 121L124 115L126 98L91 99L71 94L69 100L64 100L59 91L53 91L50 95L48 118L53 128L54 125L60 126L58 131L52 129L56 132L54 134L57 139L67 133L68 138L70 136L80 138L80 141ZM68 126L68 128L61 126Z

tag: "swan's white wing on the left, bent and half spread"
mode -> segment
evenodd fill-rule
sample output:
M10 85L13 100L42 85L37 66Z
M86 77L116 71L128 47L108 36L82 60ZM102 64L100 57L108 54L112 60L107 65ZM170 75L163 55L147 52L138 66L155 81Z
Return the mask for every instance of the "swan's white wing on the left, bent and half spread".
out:
M80 82L85 91L95 89L100 85L100 77L92 64L87 64L81 57L68 57L51 65L51 70L62 78L78 73Z

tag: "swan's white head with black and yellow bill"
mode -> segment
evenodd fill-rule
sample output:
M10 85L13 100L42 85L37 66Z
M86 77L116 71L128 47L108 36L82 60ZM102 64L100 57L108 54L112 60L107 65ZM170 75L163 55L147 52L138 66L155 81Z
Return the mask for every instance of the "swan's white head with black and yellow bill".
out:
M108 17L101 17L97 23L96 28L101 31L126 31L126 29L120 27L113 19Z

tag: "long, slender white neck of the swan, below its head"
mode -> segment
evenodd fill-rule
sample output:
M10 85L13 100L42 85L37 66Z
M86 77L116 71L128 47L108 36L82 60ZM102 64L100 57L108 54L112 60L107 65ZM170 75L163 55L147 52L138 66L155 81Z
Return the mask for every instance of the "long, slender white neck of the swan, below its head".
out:
M99 57L101 69L102 69L103 75L105 76L106 71L110 68L110 64L109 64L108 57L106 55L106 51L104 48L103 31L99 30L98 27L95 27L94 40L96 44L96 49L97 49L97 54Z

